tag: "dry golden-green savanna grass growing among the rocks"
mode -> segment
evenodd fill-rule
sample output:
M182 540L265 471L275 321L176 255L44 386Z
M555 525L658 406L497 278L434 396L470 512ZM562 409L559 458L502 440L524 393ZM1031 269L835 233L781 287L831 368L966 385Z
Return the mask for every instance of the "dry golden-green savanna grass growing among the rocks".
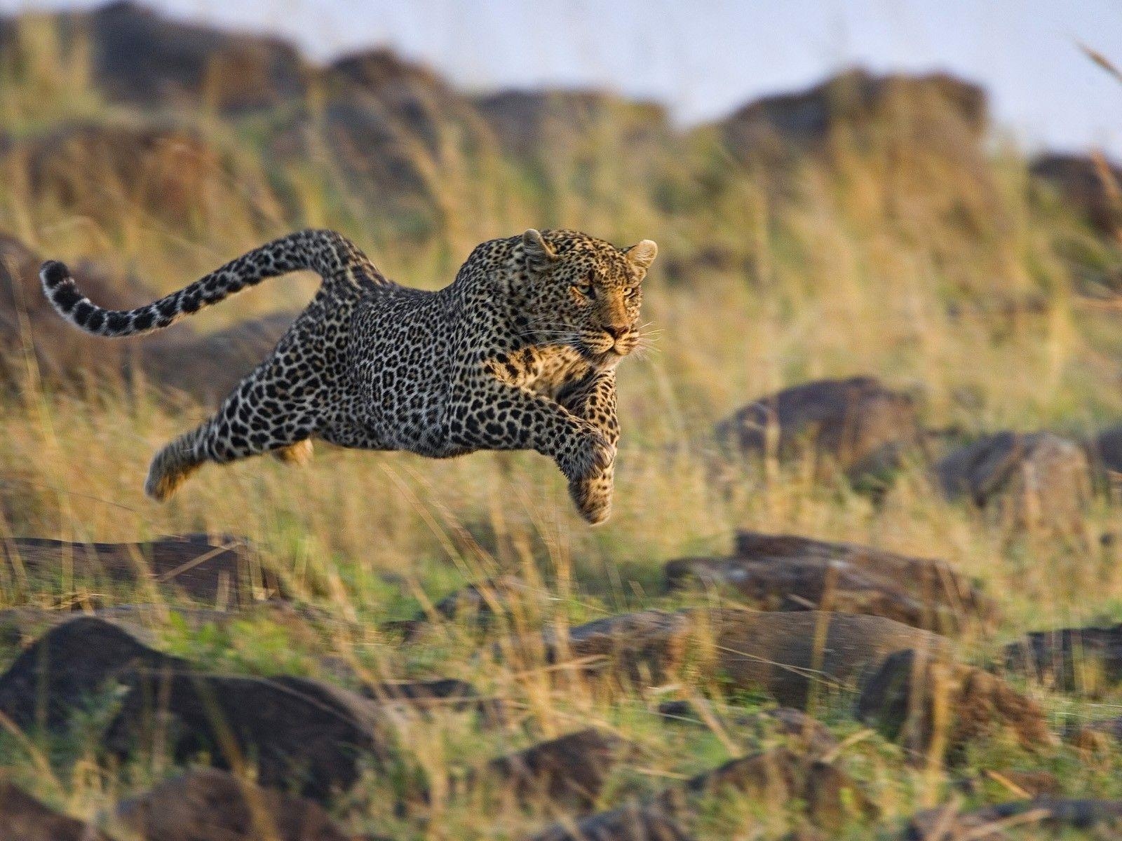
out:
M48 26L33 24L29 58L0 78L0 117L10 139L74 120L138 124L157 118L105 101L81 54L63 56ZM619 371L624 426L614 514L590 529L572 512L554 466L534 454L475 454L425 461L319 445L289 468L257 459L206 468L174 500L142 495L150 455L208 409L142 382L59 388L30 355L0 401L0 539L136 542L206 532L245 536L320 612L296 634L267 614L222 629L193 629L176 603L153 619L157 647L213 671L301 674L338 681L339 658L373 680L458 677L521 711L518 724L485 730L470 713L404 719L397 774L367 775L333 806L350 829L390 838L518 838L548 813L498 808L486 792L443 796L441 780L482 759L596 726L643 747L617 770L601 801L654 792L668 780L735 755L720 729L682 728L654 712L659 701L709 699L718 719L770 702L728 696L712 674L684 674L654 691L598 692L553 669L496 660L467 625L440 620L423 643L383 630L457 588L514 573L548 591L548 607L519 617L519 632L572 626L635 608L677 608L705 597L665 595L663 562L725 554L737 528L852 540L941 557L983 583L1002 608L1000 627L962 640L982 663L1027 630L1122 621L1119 508L1098 492L1082 529L1011 528L966 502L947 502L922 464L876 498L824 482L809 465L727 463L714 423L761 395L806 380L873 373L921 397L928 426L969 438L1002 428L1083 438L1122 418L1122 323L1103 302L1122 259L1116 244L1030 185L1027 164L1000 138L982 177L935 156L893 155L907 138L891 121L876 142L845 132L791 164L783 188L736 160L705 129L672 140L661 156L626 154L605 121L536 165L496 149L461 149L450 131L439 155L416 148L429 173L429 204L415 216L380 211L322 160L276 163L263 127L205 108L162 113L197 131L236 161L213 201L169 223L135 200L132 185L76 174L100 214L74 197L0 179L0 230L44 256L90 258L153 293L194 279L266 238L302 227L335 228L389 277L426 288L450 281L478 241L526 227L571 227L614 242L650 237L660 264L646 280L644 317L660 331L650 351ZM11 175L11 173L9 173ZM695 259L719 247L728 259ZM664 271L671 261L684 266ZM274 280L195 320L213 330L250 314L298 308L311 277ZM1020 306L1031 302L1030 306ZM718 481L715 475L720 474ZM732 477L732 478L730 478ZM26 595L26 594L25 594ZM29 598L0 581L0 608L49 610L151 602L151 592L92 592L85 582L38 582ZM327 621L322 620L328 617ZM514 620L512 620L514 621ZM0 662L18 649L0 651ZM330 658L328 656L331 656ZM1122 695L1094 700L1014 682L1043 704L1057 732L1122 712ZM843 701L821 711L842 737L861 733ZM89 728L90 733L94 729ZM94 736L27 742L0 737L16 779L46 802L92 817L148 787L169 768L138 758L107 769ZM918 808L962 797L968 806L1012 796L986 770L1045 768L1072 796L1122 797L1122 747L1094 757L1072 747L1045 755L1003 742L972 748L965 765L932 774L900 748L856 736L838 761L862 780L883 815L848 838L890 837ZM433 802L394 804L421 775ZM963 794L960 779L980 785ZM788 806L732 803L703 819L705 838L766 839L789 826ZM1045 837L1045 835L1041 835Z

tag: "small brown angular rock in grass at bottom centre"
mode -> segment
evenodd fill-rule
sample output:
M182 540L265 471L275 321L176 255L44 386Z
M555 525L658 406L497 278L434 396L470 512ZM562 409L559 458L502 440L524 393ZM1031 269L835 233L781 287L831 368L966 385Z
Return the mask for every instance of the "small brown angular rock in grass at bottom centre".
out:
M569 808L591 808L616 766L625 742L599 730L581 730L526 750L499 757L488 776L522 803L550 802Z

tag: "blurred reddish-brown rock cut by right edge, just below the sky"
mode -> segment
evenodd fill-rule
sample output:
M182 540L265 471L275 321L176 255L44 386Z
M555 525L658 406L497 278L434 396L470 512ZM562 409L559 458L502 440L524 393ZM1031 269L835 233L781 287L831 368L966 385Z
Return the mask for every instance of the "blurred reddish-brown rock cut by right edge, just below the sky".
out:
M1101 155L1037 157L1029 172L1049 184L1100 232L1118 235L1122 230L1122 167Z

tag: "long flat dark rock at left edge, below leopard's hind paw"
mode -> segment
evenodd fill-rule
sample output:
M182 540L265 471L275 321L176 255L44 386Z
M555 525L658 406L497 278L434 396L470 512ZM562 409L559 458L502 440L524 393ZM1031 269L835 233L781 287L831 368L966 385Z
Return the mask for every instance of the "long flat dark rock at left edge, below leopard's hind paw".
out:
M57 582L59 572L73 571L67 592L84 580L90 586L155 586L219 606L251 604L284 594L279 579L261 565L249 544L217 538L184 535L150 543L82 544L16 537L0 543L0 576L20 592L27 580Z

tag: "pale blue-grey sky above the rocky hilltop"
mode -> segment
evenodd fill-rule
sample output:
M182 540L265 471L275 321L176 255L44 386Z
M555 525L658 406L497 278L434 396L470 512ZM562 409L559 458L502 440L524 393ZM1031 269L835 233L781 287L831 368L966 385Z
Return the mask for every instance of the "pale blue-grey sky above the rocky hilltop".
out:
M0 0L0 10L96 6ZM313 58L389 45L471 91L594 86L682 123L854 64L982 83L1027 150L1122 159L1122 0L149 0L188 20L279 34Z

